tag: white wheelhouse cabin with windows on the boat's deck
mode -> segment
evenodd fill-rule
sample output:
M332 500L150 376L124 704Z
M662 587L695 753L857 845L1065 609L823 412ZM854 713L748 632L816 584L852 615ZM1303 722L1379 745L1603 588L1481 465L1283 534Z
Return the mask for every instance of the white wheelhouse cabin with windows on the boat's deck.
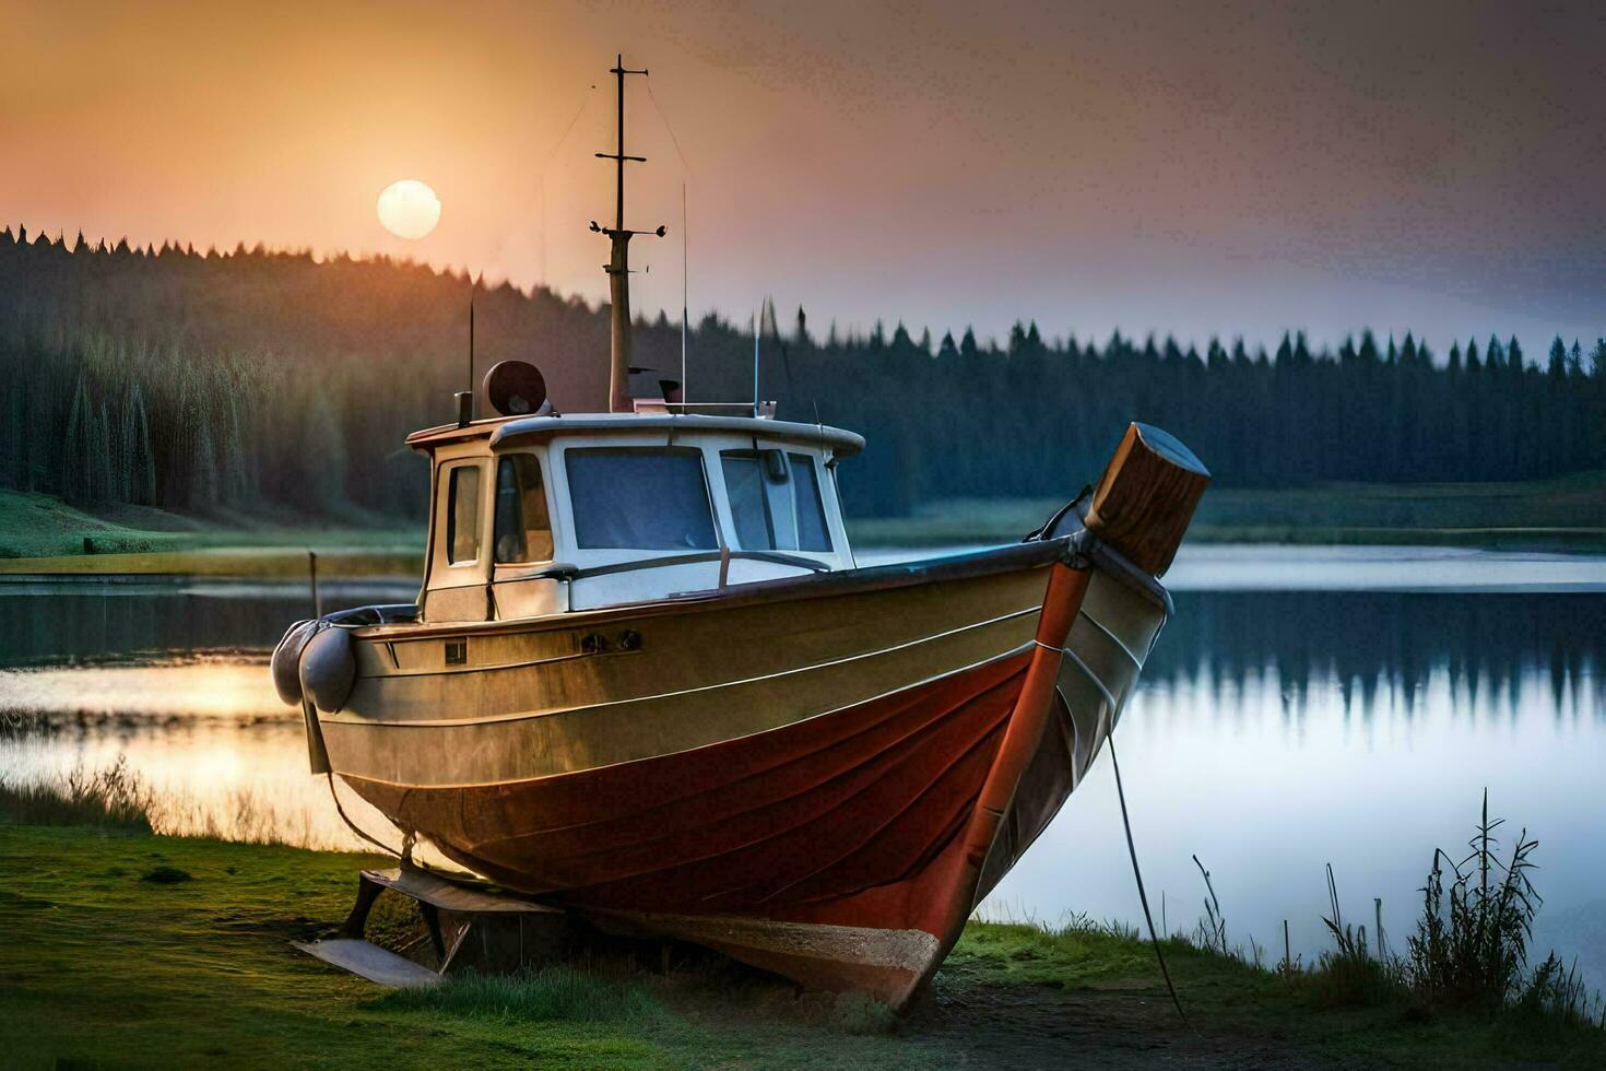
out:
M837 462L853 432L748 416L474 421L432 459L419 617L490 621L853 568Z

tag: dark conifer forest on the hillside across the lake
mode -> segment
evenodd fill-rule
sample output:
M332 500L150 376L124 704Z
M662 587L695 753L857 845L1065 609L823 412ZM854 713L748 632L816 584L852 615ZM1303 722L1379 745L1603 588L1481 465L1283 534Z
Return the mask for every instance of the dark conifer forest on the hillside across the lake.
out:
M90 246L0 230L0 487L339 523L416 519L410 430L446 422L475 371L520 358L554 403L605 401L607 307L487 287L390 260L244 246ZM750 323L687 332L687 398L753 397ZM1524 480L1606 469L1606 340L1453 340L1301 332L1267 350L1017 324L1002 342L903 324L761 324L760 393L781 419L869 446L842 469L856 515L944 498L1052 498L1094 480L1127 421L1166 427L1217 483ZM678 379L681 329L636 323L636 393Z

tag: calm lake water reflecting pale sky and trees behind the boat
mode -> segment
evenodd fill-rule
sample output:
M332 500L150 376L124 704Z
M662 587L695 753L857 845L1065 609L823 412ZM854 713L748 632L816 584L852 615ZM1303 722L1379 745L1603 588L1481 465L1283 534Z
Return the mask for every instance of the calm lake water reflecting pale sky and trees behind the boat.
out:
M861 562L911 554L861 554ZM1606 983L1606 559L1200 548L1118 747L1145 880L1190 930L1211 870L1229 938L1323 946L1323 864L1347 920L1402 946L1434 846L1490 811L1540 840L1537 943ZM414 584L326 586L326 604ZM0 779L125 756L164 829L353 845L305 772L265 652L299 584L0 583ZM345 796L350 808L350 796ZM381 819L353 814L369 829ZM1140 918L1102 758L984 906Z

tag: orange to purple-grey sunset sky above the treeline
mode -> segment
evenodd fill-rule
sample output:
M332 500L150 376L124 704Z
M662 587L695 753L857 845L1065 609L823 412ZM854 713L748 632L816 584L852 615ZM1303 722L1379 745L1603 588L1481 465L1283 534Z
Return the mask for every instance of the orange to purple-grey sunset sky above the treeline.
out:
M0 222L596 302L615 51L638 310L684 255L821 331L1606 334L1601 3L0 0Z

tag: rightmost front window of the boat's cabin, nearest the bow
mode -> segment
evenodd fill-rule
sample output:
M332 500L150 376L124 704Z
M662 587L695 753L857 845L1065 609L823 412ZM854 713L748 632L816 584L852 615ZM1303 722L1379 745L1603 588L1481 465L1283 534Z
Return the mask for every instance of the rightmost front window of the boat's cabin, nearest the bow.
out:
M811 456L779 450L726 450L719 464L740 549L830 552L825 507Z

